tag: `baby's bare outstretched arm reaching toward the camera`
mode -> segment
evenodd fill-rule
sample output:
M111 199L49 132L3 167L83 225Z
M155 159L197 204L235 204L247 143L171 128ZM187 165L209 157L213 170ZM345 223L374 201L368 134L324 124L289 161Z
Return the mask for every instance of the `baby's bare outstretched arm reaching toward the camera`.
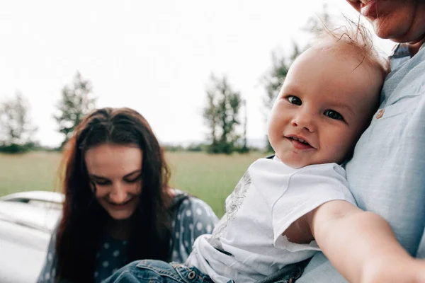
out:
M378 214L334 200L306 214L305 222L349 282L425 282L425 261L412 258Z

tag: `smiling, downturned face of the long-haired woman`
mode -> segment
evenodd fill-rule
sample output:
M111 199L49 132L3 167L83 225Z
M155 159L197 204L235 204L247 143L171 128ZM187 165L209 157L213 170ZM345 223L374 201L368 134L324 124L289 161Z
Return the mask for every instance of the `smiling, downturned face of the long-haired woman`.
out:
M142 150L132 145L101 144L87 150L84 158L99 204L113 219L129 219L142 190Z

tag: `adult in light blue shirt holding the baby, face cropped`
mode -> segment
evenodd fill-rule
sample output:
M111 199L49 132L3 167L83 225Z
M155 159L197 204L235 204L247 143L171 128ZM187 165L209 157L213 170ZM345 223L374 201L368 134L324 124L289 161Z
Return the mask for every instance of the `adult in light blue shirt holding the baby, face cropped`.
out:
M379 110L346 165L350 190L361 209L388 221L411 255L425 258L425 1L347 1L379 37L402 43L390 57ZM306 282L346 279L318 253L297 280Z

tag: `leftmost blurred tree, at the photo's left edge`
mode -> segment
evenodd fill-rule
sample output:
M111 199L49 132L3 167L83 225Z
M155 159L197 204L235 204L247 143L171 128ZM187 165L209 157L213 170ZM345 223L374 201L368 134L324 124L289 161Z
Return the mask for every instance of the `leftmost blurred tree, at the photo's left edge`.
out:
M21 92L16 92L10 100L0 105L2 151L21 152L27 151L33 144L32 137L37 127L34 127L30 119L30 107L28 101Z

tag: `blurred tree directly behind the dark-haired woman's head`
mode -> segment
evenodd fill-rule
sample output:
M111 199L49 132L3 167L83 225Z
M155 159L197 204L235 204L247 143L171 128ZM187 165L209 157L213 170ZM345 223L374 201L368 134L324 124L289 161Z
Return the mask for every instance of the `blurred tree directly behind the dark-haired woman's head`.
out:
M59 124L59 132L64 134L62 146L72 137L75 127L91 110L94 110L96 98L92 96L91 83L82 78L79 71L74 76L71 86L62 88L62 98L57 104L55 120Z

